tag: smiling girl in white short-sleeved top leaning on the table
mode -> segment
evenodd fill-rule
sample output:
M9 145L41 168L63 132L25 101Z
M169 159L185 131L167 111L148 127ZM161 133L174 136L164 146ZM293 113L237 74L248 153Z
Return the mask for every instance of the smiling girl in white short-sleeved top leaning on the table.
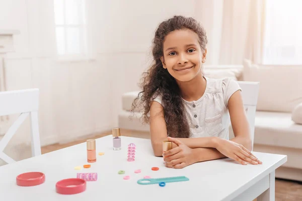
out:
M154 64L144 73L132 111L143 106L154 154L163 155L167 167L183 168L224 157L243 165L261 164L250 152L251 136L238 83L203 75L206 44L205 30L193 18L174 16L162 22L153 41ZM162 142L167 137L173 149L163 154Z

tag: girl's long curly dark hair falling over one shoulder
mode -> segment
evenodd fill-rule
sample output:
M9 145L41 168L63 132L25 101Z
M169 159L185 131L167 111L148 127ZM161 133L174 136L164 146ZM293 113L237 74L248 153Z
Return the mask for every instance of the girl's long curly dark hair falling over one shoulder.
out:
M198 35L202 51L205 51L207 37L204 28L193 18L174 16L162 22L155 32L152 54L154 63L142 74L140 83L141 91L132 103L133 112L136 107L143 109L142 119L149 123L150 100L156 95L162 96L164 115L167 125L167 134L170 137L188 138L190 136L189 124L180 88L175 78L167 69L163 68L161 57L163 56L163 43L165 37L176 30L189 29Z

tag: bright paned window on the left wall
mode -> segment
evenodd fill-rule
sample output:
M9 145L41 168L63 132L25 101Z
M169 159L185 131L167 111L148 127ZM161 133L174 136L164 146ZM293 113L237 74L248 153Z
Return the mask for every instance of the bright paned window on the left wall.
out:
M87 54L85 0L54 0L57 54Z

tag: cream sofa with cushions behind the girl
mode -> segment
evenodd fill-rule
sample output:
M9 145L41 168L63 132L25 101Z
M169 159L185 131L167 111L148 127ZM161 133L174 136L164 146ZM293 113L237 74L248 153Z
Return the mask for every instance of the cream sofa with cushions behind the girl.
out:
M236 80L260 81L255 119L254 151L287 155L287 162L276 170L276 177L302 181L302 125L291 120L292 110L302 103L302 66L257 66L245 61L243 66L205 66L208 77L232 77ZM140 121L141 113L130 112L138 91L124 93L119 126L149 133ZM302 114L300 114L302 118ZM233 131L230 128L230 138ZM265 161L263 161L265 162Z

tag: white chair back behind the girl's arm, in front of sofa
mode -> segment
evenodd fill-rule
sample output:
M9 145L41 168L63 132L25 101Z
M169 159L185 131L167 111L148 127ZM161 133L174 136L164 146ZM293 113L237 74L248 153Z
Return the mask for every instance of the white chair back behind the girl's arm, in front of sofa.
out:
M238 81L239 86L242 89L243 104L247 113L247 118L250 125L250 134L252 137L252 146L254 147L254 135L255 135L255 117L256 117L256 105L259 93L259 82Z

